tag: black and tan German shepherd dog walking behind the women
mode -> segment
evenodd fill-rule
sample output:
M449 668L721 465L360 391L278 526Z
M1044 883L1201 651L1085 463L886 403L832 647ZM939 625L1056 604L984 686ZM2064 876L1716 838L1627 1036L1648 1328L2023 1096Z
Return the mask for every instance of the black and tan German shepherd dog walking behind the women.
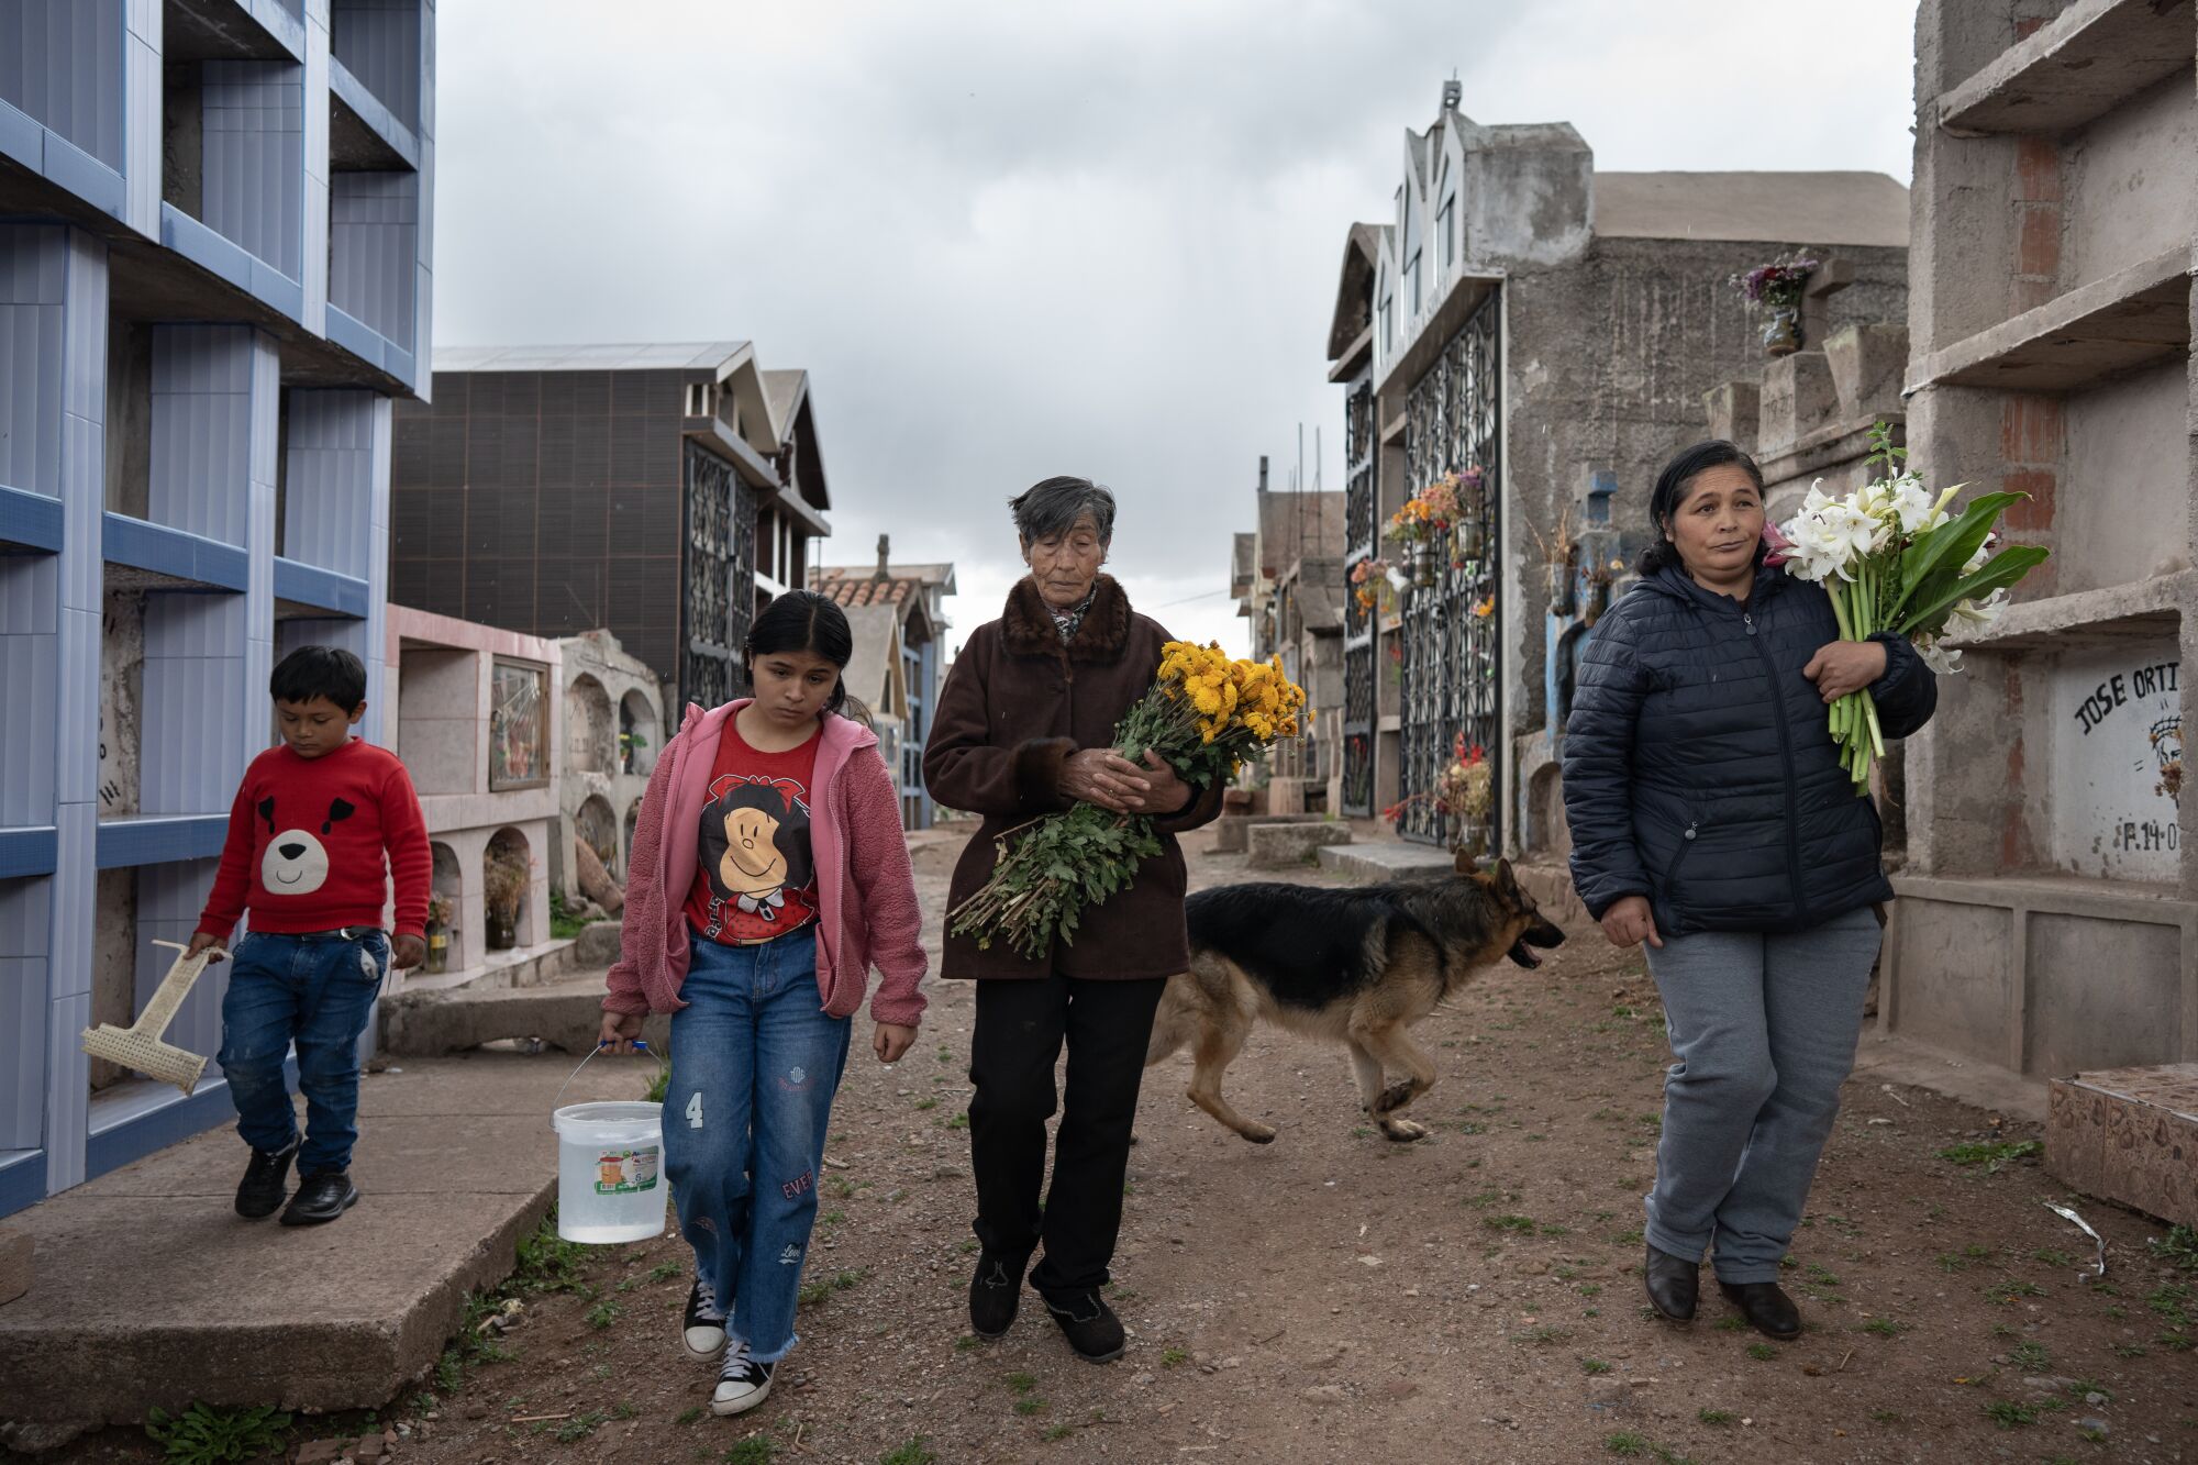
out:
M1411 1025L1481 966L1510 957L1541 966L1536 946L1565 933L1519 889L1510 860L1457 873L1356 889L1224 884L1185 902L1191 970L1167 979L1145 1067L1196 1043L1191 1102L1253 1144L1275 1137L1222 1098L1222 1071L1257 1021L1352 1049L1358 1095L1391 1139L1420 1139L1402 1109L1435 1082ZM1405 1078L1385 1087L1385 1069Z

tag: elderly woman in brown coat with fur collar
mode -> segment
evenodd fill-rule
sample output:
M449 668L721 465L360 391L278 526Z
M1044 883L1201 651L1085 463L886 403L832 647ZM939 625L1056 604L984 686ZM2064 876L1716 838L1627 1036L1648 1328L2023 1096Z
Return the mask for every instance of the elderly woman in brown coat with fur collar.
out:
M969 634L923 752L932 798L985 816L954 867L950 908L991 875L1002 834L1077 801L1152 816L1161 853L1130 889L1081 913L1075 944L1057 941L1042 959L1007 941L978 950L969 937L947 937L941 977L978 983L969 1157L983 1252L969 1326L980 1337L1009 1329L1022 1271L1044 1243L1031 1285L1077 1355L1106 1364L1123 1351L1099 1289L1121 1230L1145 1043L1161 988L1189 966L1174 836L1220 814L1222 790L1198 794L1158 757L1130 761L1110 748L1114 722L1152 686L1169 640L1099 574L1114 497L1090 480L1048 477L1011 508L1031 574L998 620ZM1064 1040L1068 1093L1040 1205Z

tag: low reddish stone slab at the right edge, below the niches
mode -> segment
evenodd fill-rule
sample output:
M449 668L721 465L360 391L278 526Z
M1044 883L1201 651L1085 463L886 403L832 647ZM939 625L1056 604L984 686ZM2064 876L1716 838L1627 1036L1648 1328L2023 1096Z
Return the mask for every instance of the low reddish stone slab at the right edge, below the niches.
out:
M2198 1225L2198 1062L2055 1078L2046 1170L2084 1194Z

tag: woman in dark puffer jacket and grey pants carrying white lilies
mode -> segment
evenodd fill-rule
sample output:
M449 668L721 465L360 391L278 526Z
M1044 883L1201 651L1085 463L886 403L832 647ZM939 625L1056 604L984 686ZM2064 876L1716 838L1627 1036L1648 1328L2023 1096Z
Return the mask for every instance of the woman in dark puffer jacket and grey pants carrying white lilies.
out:
M1763 475L1730 442L1664 466L1642 583L1596 625L1565 724L1572 880L1613 946L1646 941L1677 1062L1646 1197L1648 1300L1723 1293L1772 1337L1877 957L1877 809L1827 704L1868 689L1886 737L1939 702L1899 636L1840 640L1831 596L1763 563Z

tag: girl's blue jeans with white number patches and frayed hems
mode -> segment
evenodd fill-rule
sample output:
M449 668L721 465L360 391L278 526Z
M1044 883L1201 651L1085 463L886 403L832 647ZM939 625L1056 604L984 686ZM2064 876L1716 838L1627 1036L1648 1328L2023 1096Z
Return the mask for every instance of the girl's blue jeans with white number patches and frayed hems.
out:
M818 1170L853 1021L818 996L815 926L763 946L697 937L673 1014L664 1175L725 1335L758 1364L793 1344Z

